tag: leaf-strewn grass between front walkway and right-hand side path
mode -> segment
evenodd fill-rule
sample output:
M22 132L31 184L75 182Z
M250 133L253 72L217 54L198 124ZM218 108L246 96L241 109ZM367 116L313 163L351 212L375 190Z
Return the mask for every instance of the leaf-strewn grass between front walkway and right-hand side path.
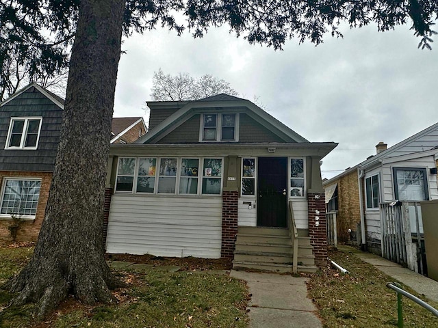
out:
M329 256L348 269L350 275L326 269L313 275L307 285L324 328L397 327L396 292L386 286L394 279L355 255L329 251ZM411 288L403 286L403 289L438 308L437 303L417 295ZM403 318L404 327L438 327L438 318L406 297L403 297Z

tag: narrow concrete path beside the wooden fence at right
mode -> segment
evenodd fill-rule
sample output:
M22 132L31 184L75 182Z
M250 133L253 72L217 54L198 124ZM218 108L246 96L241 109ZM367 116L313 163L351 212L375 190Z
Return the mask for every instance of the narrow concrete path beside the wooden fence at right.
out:
M418 294L424 295L431 301L438 302L438 282L435 280L424 277L424 275L415 273L380 256L356 249L355 247L340 245L338 249L346 253L354 254L364 262L372 264L376 269L398 280L398 282L411 287Z

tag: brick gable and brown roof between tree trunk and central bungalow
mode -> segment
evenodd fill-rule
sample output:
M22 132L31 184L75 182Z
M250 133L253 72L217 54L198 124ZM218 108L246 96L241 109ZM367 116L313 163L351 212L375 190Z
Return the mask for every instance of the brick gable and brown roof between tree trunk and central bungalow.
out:
M142 117L112 118L111 143L133 143L148 129Z

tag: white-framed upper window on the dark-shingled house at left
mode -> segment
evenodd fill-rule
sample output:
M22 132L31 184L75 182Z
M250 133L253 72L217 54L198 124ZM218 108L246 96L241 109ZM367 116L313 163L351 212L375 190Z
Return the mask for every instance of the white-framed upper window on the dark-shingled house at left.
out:
M36 150L42 118L11 118L5 149Z

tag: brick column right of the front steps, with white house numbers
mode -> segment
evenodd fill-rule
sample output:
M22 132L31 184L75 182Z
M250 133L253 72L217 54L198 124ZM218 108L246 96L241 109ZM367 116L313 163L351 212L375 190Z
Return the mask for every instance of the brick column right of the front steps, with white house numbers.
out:
M315 264L322 267L327 262L327 224L324 193L308 193L309 236L315 255Z

